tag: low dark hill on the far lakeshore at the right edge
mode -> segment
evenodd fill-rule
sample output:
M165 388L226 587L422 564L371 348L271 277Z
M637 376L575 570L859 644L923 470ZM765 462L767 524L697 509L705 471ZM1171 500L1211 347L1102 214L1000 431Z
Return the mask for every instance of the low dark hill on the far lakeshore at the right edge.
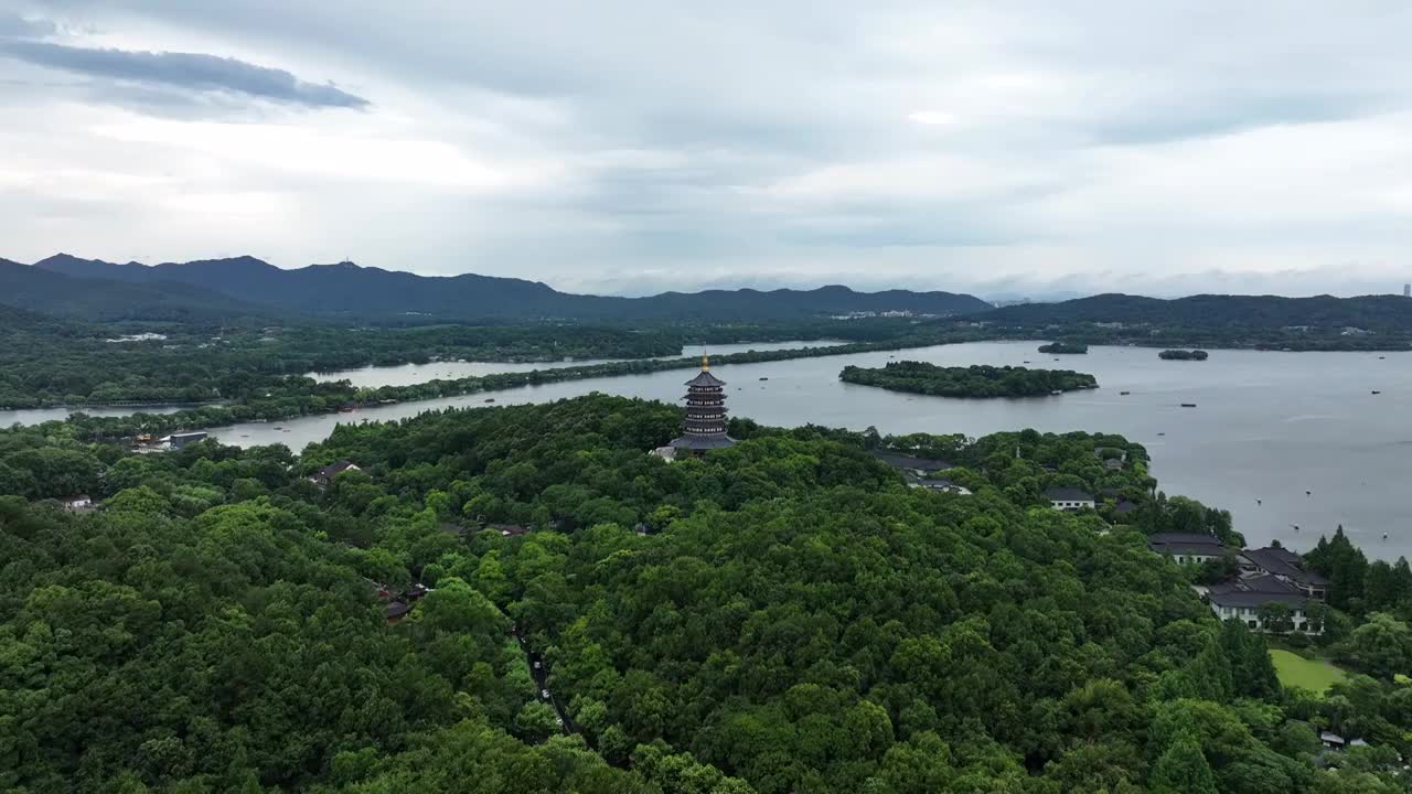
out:
M1412 331L1412 300L1401 295L1282 298L1278 295L1192 295L1144 298L1106 294L1058 304L1003 307L986 314L997 325L1042 328L1077 322L1121 322L1189 328L1278 331L1289 326Z

